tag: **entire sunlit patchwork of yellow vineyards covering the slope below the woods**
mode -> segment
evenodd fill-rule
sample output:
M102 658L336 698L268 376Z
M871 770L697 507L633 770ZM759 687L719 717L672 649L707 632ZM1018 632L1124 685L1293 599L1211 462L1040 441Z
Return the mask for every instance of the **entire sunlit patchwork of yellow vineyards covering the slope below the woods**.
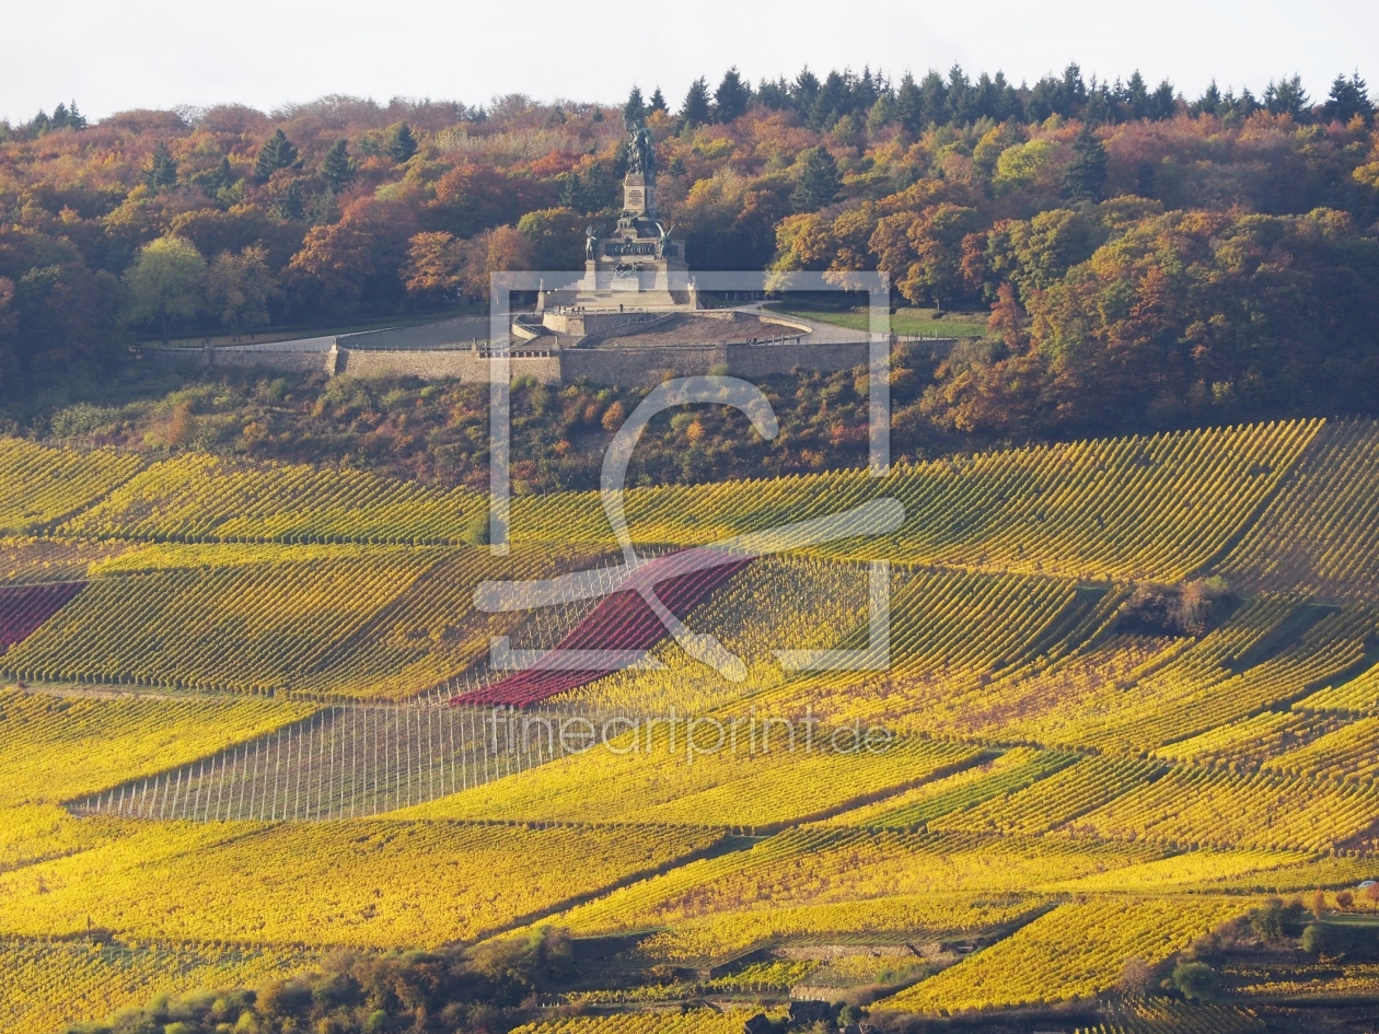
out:
M1379 1002L1379 932L1298 947L1379 914L1376 443L637 488L633 569L590 494L516 496L503 551L462 489L0 440L0 1027L550 929L574 975L528 1034L736 1034L792 989L1085 1031ZM887 498L892 534L662 574ZM1172 990L1281 950L1276 895L1294 969Z

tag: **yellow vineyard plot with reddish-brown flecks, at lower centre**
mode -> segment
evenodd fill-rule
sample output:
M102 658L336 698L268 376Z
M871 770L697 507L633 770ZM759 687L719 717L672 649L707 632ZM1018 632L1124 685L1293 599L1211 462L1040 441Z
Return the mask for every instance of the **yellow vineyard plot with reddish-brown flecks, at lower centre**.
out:
M706 859L565 913L581 933L669 926L644 950L721 960L761 943L872 932L971 935L1044 910L1045 882L1161 858L1149 847L812 827Z

